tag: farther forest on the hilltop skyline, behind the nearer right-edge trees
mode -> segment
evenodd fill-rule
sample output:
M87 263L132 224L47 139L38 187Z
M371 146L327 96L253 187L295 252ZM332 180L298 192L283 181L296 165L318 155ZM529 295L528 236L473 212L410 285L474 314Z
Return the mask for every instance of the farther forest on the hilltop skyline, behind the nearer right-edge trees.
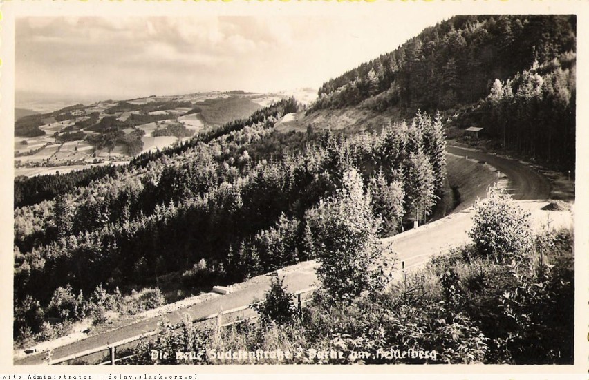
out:
M379 110L456 108L485 97L494 79L574 51L575 34L574 15L452 17L325 82L312 110L361 103Z

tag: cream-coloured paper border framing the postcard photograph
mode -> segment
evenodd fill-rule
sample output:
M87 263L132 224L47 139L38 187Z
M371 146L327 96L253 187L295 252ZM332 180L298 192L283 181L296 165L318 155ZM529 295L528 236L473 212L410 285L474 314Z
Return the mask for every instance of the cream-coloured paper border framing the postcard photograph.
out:
M3 15L1 21L0 58L2 59L0 76L0 374L95 374L108 379L108 374L198 374L199 379L217 379L221 374L240 379L259 378L256 374L291 374L303 377L304 374L314 374L313 377L328 377L330 379L356 379L370 373L375 378L391 374L406 378L428 377L439 379L467 379L479 378L514 378L514 379L554 379L588 377L589 370L589 225L587 211L588 181L589 181L589 123L586 111L588 104L588 54L589 54L589 2L585 0L464 0L464 1L402 1L376 0L374 2L338 3L333 1L259 1L232 0L218 1L183 1L183 0L122 0L122 1L79 1L79 0L8 0L2 1L0 10ZM500 14L500 13L574 13L577 15L577 202L575 206L576 229L576 299L575 299L575 364L565 366L536 365L395 365L395 366L205 366L205 367L116 367L89 368L65 366L50 367L15 367L12 365L12 178L13 158L12 139L14 126L14 28L15 17L25 15L79 15L79 16L120 16L120 15L371 15L373 12L402 15L406 23L414 17L420 17L423 12L436 12L445 18L456 14ZM382 52L385 53L385 52ZM207 374L202 377L201 374ZM495 376L491 376L495 374ZM267 377L267 376L264 376ZM306 376L308 377L308 375ZM268 378L270 378L268 376ZM273 377L272 377L273 378Z

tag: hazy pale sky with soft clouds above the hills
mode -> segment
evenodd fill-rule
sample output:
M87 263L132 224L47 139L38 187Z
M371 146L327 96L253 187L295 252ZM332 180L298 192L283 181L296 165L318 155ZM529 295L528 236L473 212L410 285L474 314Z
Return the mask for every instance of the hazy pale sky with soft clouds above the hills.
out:
M318 88L443 18L22 17L16 90L122 99Z

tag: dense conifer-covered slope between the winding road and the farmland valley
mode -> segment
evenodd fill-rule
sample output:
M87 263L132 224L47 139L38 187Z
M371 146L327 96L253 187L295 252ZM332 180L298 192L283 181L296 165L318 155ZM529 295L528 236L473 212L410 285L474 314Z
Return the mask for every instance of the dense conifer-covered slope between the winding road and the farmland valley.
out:
M372 193L380 236L429 216L445 178L439 118L351 137L275 131L297 108L284 100L117 169L15 184L28 205L15 209L15 336L48 336L50 317L100 321L96 294L160 278L206 289L313 258L310 209L350 168Z

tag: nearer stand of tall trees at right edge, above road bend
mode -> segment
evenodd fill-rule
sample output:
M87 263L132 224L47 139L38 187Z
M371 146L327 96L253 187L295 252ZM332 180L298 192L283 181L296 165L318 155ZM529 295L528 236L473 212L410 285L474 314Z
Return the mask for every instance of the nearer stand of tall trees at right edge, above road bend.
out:
M480 125L504 149L574 171L576 57L563 55L501 81L478 106Z

